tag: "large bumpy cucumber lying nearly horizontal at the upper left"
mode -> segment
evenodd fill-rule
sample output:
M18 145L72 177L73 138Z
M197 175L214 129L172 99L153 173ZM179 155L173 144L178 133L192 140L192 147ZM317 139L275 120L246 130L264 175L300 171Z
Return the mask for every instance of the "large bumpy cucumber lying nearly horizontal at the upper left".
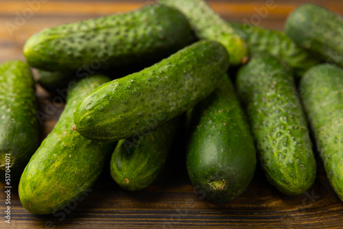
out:
M191 41L181 12L163 5L44 29L24 46L32 67L73 71L84 64L110 69L161 60Z

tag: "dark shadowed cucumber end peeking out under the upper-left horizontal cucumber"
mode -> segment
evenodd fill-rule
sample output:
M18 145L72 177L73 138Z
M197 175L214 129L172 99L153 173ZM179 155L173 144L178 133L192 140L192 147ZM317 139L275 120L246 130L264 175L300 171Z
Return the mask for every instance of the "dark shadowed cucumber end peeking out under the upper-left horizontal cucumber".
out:
M68 88L69 82L73 79L72 73L60 71L44 71L38 69L38 83L52 95L58 95L58 91Z

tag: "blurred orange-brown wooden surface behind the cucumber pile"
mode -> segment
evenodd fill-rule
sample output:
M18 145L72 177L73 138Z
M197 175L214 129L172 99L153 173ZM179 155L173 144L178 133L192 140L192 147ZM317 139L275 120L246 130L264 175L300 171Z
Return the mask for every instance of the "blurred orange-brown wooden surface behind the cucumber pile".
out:
M206 0L228 21L283 29L289 12L316 3L343 15L342 0ZM153 0L0 0L0 62L23 60L23 45L32 34L54 25L127 12Z

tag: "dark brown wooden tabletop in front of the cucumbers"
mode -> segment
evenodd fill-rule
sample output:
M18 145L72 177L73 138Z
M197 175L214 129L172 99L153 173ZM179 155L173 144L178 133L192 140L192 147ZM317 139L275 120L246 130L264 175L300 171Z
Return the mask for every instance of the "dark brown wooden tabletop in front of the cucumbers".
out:
M165 169L146 189L124 191L110 176L109 165L84 200L54 215L34 215L17 207L18 226L33 228L193 228L198 226L261 228L334 228L342 203L333 193L318 161L318 178L296 197L282 195L268 184L261 167L248 189L233 202L218 204L194 190L185 169L185 145L174 147ZM177 151L179 149L179 151ZM174 153L174 154L173 154ZM17 196L14 199L18 198Z

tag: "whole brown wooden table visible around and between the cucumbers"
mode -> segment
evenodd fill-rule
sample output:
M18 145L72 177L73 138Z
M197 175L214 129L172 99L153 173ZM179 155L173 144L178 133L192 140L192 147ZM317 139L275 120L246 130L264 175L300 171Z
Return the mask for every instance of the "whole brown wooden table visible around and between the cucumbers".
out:
M35 5L30 16L27 2L32 1L1 0L0 62L23 60L25 40L45 27L125 12L150 3L149 0L49 0ZM248 21L274 29L283 29L287 14L300 3L318 3L343 15L340 0L274 0L276 8L267 8L266 14L259 14L265 9L266 2L209 1L224 19ZM29 18L16 23L19 20L16 15L23 12ZM6 29L9 23L16 26L12 32ZM39 86L37 94L40 110L44 111L47 104L52 103L51 97ZM42 139L54 127L64 104L54 106L56 112L42 126ZM201 193L196 195L185 169L185 141L178 139L178 142L183 144L174 145L161 176L147 189L136 193L123 191L113 182L106 166L93 191L78 202L76 208L67 209L63 214L42 216L27 212L14 188L12 224L5 224L5 190L0 184L0 228L343 228L343 203L331 189L318 158L318 178L303 195L282 195L266 182L261 168L257 167L254 180L237 200L215 204L203 199Z

